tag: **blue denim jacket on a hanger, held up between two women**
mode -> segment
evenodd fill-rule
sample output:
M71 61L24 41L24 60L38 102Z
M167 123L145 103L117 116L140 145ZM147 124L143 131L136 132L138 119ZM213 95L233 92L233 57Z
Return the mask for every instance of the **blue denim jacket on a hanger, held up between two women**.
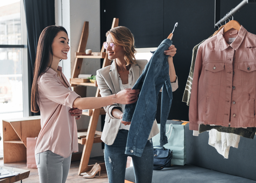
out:
M160 145L167 144L165 124L172 103L172 87L169 76L168 50L172 41L165 39L153 52L132 89L140 89L137 102L125 106L123 121L131 121L125 154L141 157L156 117L158 93L162 87Z

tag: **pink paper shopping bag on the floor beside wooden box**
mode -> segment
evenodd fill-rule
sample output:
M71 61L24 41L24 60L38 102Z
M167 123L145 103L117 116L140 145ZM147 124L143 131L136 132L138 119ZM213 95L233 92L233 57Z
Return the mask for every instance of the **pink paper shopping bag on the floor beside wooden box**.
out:
M35 147L37 137L27 137L27 168L37 168Z

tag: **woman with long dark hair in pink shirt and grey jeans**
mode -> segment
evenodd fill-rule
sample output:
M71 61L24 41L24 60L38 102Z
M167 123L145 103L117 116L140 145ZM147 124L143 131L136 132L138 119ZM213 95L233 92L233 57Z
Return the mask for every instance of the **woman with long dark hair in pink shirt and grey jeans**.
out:
M35 157L41 183L66 181L72 152L78 151L76 119L81 109L95 109L113 103L133 103L138 90L125 90L108 97L81 98L72 91L58 63L67 59L70 49L67 31L62 26L48 26L40 35L31 111L41 112L41 131L37 138Z

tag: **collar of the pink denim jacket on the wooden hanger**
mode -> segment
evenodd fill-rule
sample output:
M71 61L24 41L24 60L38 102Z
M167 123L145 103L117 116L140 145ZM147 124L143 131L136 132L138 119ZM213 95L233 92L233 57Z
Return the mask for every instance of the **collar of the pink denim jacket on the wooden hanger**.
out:
M240 30L239 30L238 35L235 38L235 40L231 44L228 44L226 42L225 38L223 37L224 28L221 29L217 33L217 40L218 40L219 49L221 51L223 51L223 50L225 50L225 49L227 49L228 47L231 46L234 50L237 50L239 48L239 46L241 45L241 43L243 42L246 33L247 33L247 30L241 25Z

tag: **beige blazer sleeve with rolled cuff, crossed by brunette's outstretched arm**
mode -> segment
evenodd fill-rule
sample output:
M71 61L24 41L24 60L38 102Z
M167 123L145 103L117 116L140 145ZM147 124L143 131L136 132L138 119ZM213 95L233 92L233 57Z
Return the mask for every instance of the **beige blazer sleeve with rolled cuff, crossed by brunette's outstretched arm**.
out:
M97 74L96 74L96 81L97 81L97 85L100 89L100 95L102 97L112 95L111 89L106 84L104 78L100 75L100 72L98 70L97 70ZM117 104L108 105L103 108L111 119L118 119L111 114L113 108L118 108L120 111L122 111L122 108L120 106L118 106Z

